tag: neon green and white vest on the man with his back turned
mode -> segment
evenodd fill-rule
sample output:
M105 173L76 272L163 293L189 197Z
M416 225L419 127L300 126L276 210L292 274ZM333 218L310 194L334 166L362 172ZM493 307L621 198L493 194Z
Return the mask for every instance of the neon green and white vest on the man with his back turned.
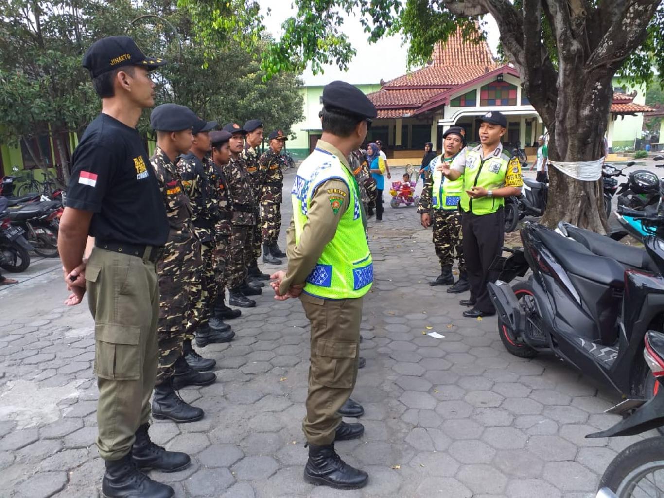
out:
M316 148L297 169L293 182L293 222L295 244L299 243L313 193L325 181L343 181L349 191L349 204L327 243L315 268L307 277L304 291L323 299L362 297L373 282L373 262L362 220L359 188L355 178L332 153Z

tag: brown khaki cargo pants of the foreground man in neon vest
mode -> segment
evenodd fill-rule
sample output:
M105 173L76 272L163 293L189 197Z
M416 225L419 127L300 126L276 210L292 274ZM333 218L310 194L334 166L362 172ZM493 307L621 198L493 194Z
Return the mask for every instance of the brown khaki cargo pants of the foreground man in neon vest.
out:
M321 446L334 441L341 424L337 412L357 380L362 298L321 299L302 293L299 299L311 322L309 392L302 430L307 442Z

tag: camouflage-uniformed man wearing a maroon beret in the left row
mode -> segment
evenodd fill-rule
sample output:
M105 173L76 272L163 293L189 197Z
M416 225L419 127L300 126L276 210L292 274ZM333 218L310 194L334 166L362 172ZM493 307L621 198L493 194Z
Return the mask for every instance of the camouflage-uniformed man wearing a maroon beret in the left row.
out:
M232 309L224 304L226 262L228 260L228 248L230 247L233 211L228 192L228 181L224 176L223 168L230 161L229 141L231 137L232 135L228 131L212 131L210 133L212 151L207 170L210 183L214 187L214 202L219 212L219 219L214 224L214 250L212 250L214 281L218 290L217 299L214 303L214 314L226 319L237 318L242 314L239 309Z

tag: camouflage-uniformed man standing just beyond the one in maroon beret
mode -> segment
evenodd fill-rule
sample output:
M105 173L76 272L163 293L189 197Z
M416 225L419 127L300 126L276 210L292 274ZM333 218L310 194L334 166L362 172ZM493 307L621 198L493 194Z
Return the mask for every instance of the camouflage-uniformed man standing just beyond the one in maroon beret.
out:
M222 166L222 173L228 181L228 195L232 201L230 246L226 261L226 282L228 284L228 304L240 307L254 307L256 301L248 295L262 293L260 287L247 282L248 258L253 257L254 225L256 224L256 198L246 164L242 159L242 147L246 131L237 123L224 126L230 137L230 162Z

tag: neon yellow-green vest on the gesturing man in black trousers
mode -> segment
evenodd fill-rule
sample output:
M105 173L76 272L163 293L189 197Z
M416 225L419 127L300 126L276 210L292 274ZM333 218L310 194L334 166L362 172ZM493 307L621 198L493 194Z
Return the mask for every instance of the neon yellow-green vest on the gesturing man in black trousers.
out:
M465 191L473 187L484 187L487 190L505 187L505 175L512 156L503 149L500 155L490 155L482 159L481 147L479 145L475 149L468 149L465 155L461 208L464 211L472 211L473 214L491 214L505 205L503 197L471 199Z

